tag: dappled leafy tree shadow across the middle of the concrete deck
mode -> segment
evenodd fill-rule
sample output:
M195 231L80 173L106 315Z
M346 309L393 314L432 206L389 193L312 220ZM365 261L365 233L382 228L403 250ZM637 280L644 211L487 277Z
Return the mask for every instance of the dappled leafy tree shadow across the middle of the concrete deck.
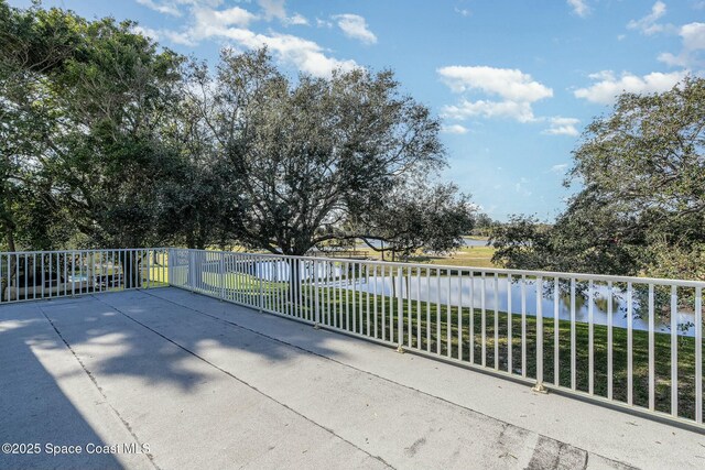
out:
M45 302L42 309L62 338L96 376L137 379L140 384L175 386L184 392L208 381L210 371L195 371L188 356L204 348L218 347L226 353L248 354L260 364L294 362L302 350L237 325L238 313L253 310L178 289L173 299L145 292L97 294L74 302ZM183 304L183 305L180 305ZM261 315L262 321L280 319ZM301 330L306 349L321 354L339 356L327 349L324 336L311 335L311 326L284 323L290 334ZM351 341L354 339L350 339ZM65 347L55 345L55 347ZM214 370L215 371L215 370Z

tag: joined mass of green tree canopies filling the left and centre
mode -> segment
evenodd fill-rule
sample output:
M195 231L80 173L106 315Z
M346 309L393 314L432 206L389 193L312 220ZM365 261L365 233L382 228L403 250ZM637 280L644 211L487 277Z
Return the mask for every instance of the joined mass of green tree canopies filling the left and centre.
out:
M0 10L0 230L11 250L304 254L364 238L409 253L452 250L471 228L467 196L433 182L445 164L438 120L390 70L290 78L264 50L224 50L210 67L129 21L2 0Z

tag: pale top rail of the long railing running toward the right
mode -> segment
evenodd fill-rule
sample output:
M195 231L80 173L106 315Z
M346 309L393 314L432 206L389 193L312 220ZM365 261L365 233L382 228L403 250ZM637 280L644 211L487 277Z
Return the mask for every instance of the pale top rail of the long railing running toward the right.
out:
M218 250L194 250L194 249L177 249L177 250L191 250L203 251L209 253L221 252ZM531 276L531 277L558 277L558 278L576 278L579 281L604 281L604 282L621 282L621 283L638 283L638 284L658 284L658 285L675 285L681 287L703 287L705 288L705 281L687 281L687 280L674 280L665 277L638 277L638 276L616 276L608 274L589 274L589 273L572 273L572 272L557 272L557 271L536 271L536 270L508 270L501 267L478 267L478 266L454 266L444 264L423 264L423 263L400 263L392 261L379 261L379 260L356 260L349 258L323 258L323 256L299 256L288 254L273 254L273 253L248 253L248 252L230 252L224 251L223 253L230 253L237 255L260 256L270 259L295 259L295 260L308 260L308 261L330 261L330 262L350 262L357 264L383 264L386 266L395 267L420 267L431 270L443 271L473 271L489 274L507 274L512 276Z

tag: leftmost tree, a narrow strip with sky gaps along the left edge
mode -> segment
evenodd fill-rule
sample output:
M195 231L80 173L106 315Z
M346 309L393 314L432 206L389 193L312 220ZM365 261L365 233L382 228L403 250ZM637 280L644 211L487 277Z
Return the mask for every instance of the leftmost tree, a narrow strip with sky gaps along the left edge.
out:
M36 6L20 10L0 1L0 244L9 251L18 240L46 249L55 226L65 231L43 165L42 136L53 122L45 77L62 67L76 34L55 20Z

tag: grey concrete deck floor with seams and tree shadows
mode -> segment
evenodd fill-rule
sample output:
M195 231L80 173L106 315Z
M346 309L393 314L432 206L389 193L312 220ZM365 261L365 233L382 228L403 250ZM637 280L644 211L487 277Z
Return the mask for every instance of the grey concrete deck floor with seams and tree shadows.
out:
M702 434L174 288L0 307L0 442L39 445L0 468L705 468Z

